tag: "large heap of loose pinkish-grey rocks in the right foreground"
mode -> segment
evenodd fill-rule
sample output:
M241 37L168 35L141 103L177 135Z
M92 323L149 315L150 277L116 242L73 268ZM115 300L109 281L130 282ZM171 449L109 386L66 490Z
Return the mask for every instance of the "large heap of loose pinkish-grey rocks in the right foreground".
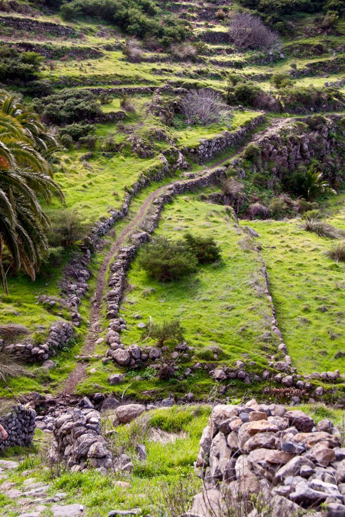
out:
M273 517L311 508L317 511L313 517L345 515L345 448L340 438L331 421L316 425L301 410L278 404L251 400L215 406L195 464L204 494L194 498L192 513L205 514L211 505L219 514L225 493L232 504L252 508L252 494L261 493ZM250 513L258 515L256 510Z

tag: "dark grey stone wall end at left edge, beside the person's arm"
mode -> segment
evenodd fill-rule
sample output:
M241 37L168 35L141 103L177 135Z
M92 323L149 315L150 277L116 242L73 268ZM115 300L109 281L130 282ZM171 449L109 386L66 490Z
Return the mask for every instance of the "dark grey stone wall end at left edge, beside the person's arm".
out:
M36 412L31 407L22 405L12 407L9 412L0 417L0 424L8 433L7 440L0 435L0 453L7 447L30 445L35 432Z

